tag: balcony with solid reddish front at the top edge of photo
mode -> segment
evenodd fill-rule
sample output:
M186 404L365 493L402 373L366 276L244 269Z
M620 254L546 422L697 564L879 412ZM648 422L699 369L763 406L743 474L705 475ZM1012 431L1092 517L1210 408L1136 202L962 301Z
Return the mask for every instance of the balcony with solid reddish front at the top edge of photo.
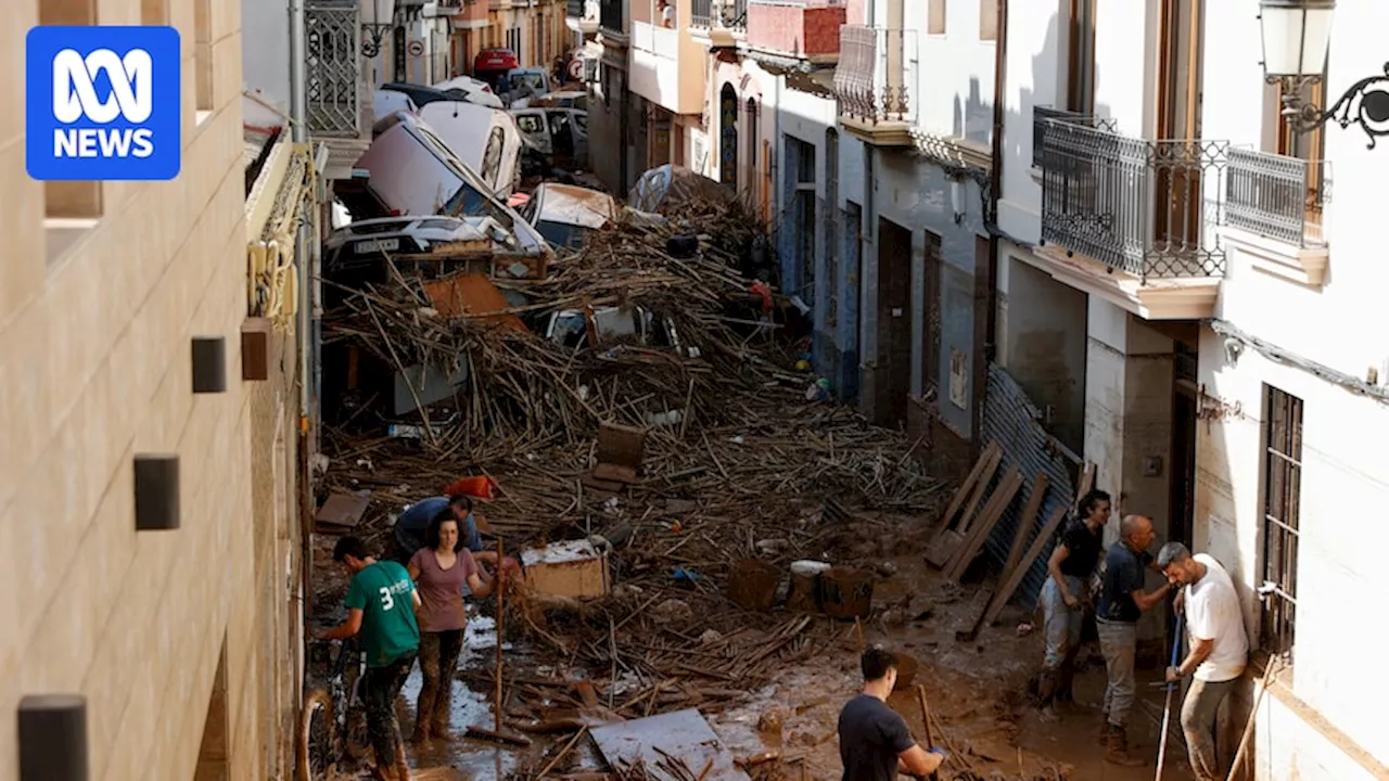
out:
M774 58L826 65L839 61L847 10L829 0L749 0L747 46Z

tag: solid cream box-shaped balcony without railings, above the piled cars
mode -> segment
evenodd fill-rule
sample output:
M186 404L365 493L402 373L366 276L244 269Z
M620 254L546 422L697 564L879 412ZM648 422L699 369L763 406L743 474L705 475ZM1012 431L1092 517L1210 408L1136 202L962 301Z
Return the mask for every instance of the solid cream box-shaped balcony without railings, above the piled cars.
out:
M632 21L629 89L671 111L704 111L707 51L688 31Z

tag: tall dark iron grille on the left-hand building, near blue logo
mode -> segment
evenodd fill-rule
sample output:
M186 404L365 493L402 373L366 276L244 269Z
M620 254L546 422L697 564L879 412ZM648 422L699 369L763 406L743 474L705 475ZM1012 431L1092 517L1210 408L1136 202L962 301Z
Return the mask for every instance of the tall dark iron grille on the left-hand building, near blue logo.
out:
M357 138L357 43L361 36L356 3L318 1L304 7L306 92L308 132L315 136Z

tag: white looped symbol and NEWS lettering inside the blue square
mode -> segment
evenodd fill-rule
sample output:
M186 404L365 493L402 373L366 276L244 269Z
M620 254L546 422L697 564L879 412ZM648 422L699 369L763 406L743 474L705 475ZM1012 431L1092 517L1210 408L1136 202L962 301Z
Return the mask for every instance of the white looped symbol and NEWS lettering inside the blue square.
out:
M97 49L86 57L64 49L53 57L53 117L72 125L83 117L99 125L124 118L140 125L154 110L150 53L132 49L125 57ZM106 74L111 93L96 94L93 79ZM54 128L54 157L149 157L154 153L154 131L149 128Z

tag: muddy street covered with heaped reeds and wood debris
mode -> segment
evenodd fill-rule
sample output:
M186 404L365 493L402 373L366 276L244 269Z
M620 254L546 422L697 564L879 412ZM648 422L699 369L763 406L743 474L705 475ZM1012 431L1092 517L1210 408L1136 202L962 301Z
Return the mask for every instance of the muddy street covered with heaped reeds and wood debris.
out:
M924 560L956 486L922 466L925 438L870 425L822 397L781 334L785 324L760 324L756 310L738 314L751 281L740 277L733 249L746 245L739 228L749 218L720 203L693 200L672 214L699 232L694 257L667 253L672 228L619 218L561 253L547 279L507 283L540 310L582 300L660 313L676 345L600 335L574 349L488 311L417 314L386 288L349 295L326 314L329 343L407 364L460 345L472 356L468 422L440 427L432 442L428 431L354 434L372 414L356 406L329 427L319 495L369 496L338 534L350 531L386 554L407 504L476 475L496 485L496 496L476 504L485 545L499 539L508 556L542 561L506 595L501 656L503 724L531 745L465 735L494 718L494 603L476 600L450 732L413 746L415 767L461 778L538 778L542 770L636 778L643 771L624 775L606 762L589 730L696 709L753 777L833 780L839 706L861 682L861 649L883 643L915 668L892 705L918 735L926 732L908 682L926 688L935 741L951 752L945 778L1146 777L1150 770L1106 766L1095 745L1097 655L1076 712L1053 727L1028 702L1040 643L1036 632L1014 631L1026 618L1020 609L974 641L956 639L995 581L982 557L960 581ZM451 403L431 406L421 428L450 416ZM639 468L604 482L600 429L614 425L642 432ZM565 541L593 545L597 592L581 596L533 575L547 559L526 552ZM318 628L344 616L333 542L321 534L315 550ZM789 593L796 561L833 566L820 577L870 584L871 596L856 606L806 602ZM836 609L840 618L825 613ZM397 703L407 730L418 688L415 670ZM1133 737L1153 745L1161 705L1146 693ZM1178 764L1168 778L1182 777Z

